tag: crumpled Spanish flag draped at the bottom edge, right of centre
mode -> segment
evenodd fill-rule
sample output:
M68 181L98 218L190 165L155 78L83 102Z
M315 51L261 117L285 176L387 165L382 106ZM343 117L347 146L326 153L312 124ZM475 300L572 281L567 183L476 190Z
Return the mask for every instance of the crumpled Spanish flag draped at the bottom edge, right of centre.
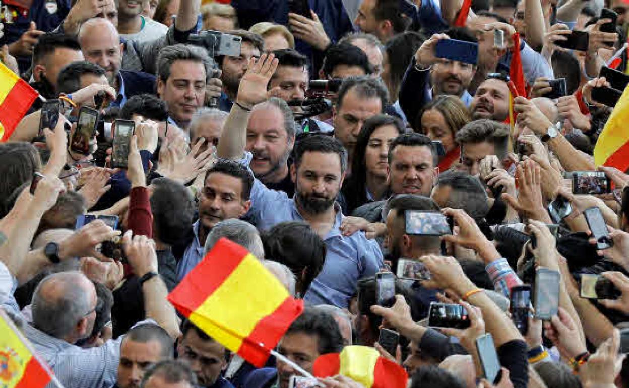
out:
M365 388L406 388L408 375L397 363L380 357L367 346L345 346L340 353L322 355L315 360L316 377L347 376Z

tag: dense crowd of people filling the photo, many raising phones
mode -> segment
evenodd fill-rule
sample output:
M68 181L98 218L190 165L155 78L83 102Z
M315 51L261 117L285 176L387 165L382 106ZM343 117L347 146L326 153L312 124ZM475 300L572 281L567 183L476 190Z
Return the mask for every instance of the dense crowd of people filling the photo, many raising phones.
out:
M1 3L0 59L42 98L0 143L0 303L58 382L289 388L362 345L412 388L629 388L629 175L593 157L629 3L296 3ZM575 172L604 184L574 194ZM254 367L167 300L221 238L304 300L276 347L292 364ZM435 302L469 325L430 324Z

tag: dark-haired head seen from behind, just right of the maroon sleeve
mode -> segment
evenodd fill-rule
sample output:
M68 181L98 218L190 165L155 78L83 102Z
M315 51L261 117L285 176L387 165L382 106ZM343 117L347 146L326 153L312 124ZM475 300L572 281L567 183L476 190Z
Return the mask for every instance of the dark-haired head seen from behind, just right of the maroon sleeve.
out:
M181 241L192 226L196 203L191 192L179 182L158 178L151 182L153 225L159 240L166 245Z

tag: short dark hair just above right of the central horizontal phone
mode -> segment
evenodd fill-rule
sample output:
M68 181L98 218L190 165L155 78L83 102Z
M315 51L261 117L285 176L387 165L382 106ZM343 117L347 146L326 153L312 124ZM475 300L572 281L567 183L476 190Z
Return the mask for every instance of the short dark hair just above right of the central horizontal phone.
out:
M448 170L437 177L437 186L452 189L445 207L463 209L474 219L481 219L489 212L487 193L477 177L462 171Z

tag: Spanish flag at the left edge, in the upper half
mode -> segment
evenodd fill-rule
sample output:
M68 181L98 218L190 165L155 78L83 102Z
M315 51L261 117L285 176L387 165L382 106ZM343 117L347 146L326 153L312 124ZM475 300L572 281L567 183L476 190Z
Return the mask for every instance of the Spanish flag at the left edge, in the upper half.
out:
M37 96L35 89L0 62L0 141L9 140Z

